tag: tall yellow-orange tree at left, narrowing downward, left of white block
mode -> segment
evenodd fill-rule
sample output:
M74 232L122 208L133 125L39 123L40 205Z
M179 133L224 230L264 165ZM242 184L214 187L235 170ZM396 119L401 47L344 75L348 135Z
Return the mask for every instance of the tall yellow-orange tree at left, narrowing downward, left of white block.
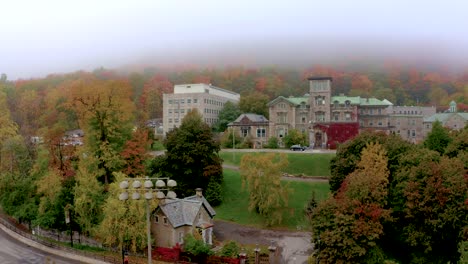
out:
M122 167L119 153L130 137L133 113L131 88L123 81L85 79L73 82L71 107L86 136L89 159L100 181L108 184Z

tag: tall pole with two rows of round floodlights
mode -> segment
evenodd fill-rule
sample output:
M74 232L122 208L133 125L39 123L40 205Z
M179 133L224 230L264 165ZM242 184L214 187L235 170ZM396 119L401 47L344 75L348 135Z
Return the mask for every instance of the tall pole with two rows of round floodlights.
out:
M132 182L130 185L129 182ZM143 184L142 184L143 182ZM153 182L155 182L153 184ZM128 191L132 191L132 199L139 200L141 198L140 192L144 193L146 200L146 234L148 237L148 264L151 264L151 222L150 222L150 210L149 200L154 197L158 200L169 198L175 199L176 193L171 191L171 188L176 187L177 183L169 178L129 178L120 182L120 189L123 190L119 195L119 200L128 200ZM167 194L164 192L167 191ZM153 195L154 193L154 195Z

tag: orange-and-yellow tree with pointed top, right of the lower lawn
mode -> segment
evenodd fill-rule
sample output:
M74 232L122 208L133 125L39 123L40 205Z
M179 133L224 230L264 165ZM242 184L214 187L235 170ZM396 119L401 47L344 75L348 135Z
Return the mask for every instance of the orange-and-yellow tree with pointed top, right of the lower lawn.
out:
M349 174L337 195L319 204L312 216L316 255L324 263L383 263L379 246L386 209L388 159L379 144L367 144L357 168Z

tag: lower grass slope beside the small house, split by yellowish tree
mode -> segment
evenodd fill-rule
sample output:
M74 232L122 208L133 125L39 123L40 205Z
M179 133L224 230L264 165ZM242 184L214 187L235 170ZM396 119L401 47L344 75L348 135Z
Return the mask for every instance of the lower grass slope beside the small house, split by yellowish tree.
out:
M287 181L292 189L289 196L290 212L283 218L281 228L290 230L303 229L306 222L303 214L304 206L310 200L312 191L318 201L329 194L328 183ZM238 171L224 169L223 203L216 207L216 219L236 222L242 225L264 227L263 218L255 212L248 211L248 193L242 189Z

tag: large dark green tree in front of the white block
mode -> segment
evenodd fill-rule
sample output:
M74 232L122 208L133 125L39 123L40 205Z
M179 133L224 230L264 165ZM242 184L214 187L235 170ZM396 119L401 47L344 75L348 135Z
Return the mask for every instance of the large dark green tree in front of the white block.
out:
M196 188L203 188L207 193L219 190L216 185L223 181L218 155L220 146L198 111L187 113L181 126L167 133L164 144L167 151L153 160L151 174L176 180L175 191L182 197L195 194ZM216 203L214 200L208 201Z

